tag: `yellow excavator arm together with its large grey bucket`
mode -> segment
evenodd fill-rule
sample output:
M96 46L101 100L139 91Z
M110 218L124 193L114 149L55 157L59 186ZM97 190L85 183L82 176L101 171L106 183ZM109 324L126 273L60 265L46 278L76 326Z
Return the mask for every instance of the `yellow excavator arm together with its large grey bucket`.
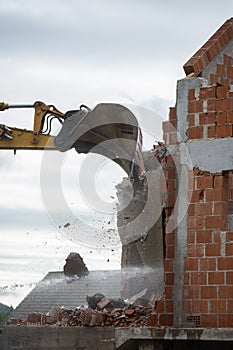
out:
M75 148L78 153L92 152L110 158L136 180L144 171L141 130L134 114L120 104L100 103L93 110L81 105L64 114L40 101L32 105L0 102L0 111L9 108L33 108L33 130L0 123L0 149L65 152ZM55 136L50 134L54 118L61 123Z

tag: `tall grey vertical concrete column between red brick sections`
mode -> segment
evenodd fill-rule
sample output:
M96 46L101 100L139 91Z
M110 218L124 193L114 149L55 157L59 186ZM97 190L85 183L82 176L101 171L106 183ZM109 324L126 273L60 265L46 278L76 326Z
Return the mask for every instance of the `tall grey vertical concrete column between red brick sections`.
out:
M175 205L175 258L174 258L174 325L185 325L183 313L184 259L187 256L187 214L188 209L188 170L191 167L188 141L188 93L207 85L204 78L182 79L177 83L177 146L171 146L169 151L174 156L177 169L177 199Z

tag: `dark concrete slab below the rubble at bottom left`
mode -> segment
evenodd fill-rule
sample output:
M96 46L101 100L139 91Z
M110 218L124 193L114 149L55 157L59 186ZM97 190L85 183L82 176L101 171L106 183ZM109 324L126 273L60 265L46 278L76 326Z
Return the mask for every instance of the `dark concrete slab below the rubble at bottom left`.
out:
M4 327L0 328L1 350L114 350L113 327Z

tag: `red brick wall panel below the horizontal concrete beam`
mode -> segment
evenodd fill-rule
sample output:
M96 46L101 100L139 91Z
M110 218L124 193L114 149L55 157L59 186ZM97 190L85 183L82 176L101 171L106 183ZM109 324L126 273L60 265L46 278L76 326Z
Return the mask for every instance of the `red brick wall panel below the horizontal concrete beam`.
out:
M188 255L183 307L203 327L233 326L233 232L228 231L232 171L190 173Z

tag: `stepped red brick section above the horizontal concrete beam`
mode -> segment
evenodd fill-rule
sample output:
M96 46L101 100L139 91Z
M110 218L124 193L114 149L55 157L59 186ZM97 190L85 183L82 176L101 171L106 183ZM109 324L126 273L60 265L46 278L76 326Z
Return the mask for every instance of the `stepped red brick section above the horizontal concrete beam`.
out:
M232 58L224 55L224 64L217 64L216 71L210 74L211 86L189 90L189 139L233 136Z

